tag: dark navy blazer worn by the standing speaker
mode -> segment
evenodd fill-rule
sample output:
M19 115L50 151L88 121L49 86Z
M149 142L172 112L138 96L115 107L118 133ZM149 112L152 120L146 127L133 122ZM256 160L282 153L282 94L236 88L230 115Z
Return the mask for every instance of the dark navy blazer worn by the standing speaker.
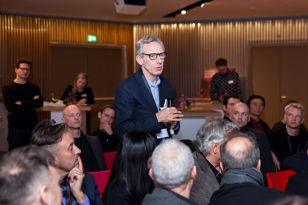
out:
M163 107L170 83L162 76L159 78L159 101L160 107ZM116 87L114 104L115 132L118 137L135 129L152 135L160 132L160 124L155 115L158 110L144 83L141 68ZM178 131L179 128L175 132Z

